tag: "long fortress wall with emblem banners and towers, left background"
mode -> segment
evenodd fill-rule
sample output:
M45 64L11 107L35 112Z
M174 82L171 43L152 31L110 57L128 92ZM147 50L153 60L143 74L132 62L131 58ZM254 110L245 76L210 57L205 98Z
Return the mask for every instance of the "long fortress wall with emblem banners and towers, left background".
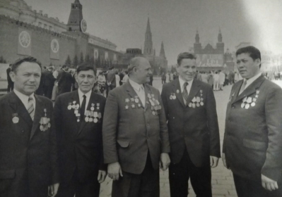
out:
M79 0L69 6L69 21L64 24L58 18L43 14L43 11L33 11L23 0L1 1L0 56L7 63L13 63L22 56L34 56L43 66L64 65L68 56L74 63L75 58L79 61L82 56L105 70L110 66L127 68L131 58L143 56L150 61L155 73L168 68L163 43L160 56L155 56L149 19L144 53L135 53L131 49L121 52L116 51L117 46L107 39L86 32L87 23Z

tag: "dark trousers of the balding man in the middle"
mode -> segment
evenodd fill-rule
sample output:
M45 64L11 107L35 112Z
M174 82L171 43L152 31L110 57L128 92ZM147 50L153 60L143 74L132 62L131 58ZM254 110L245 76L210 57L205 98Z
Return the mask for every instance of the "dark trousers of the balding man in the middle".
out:
M146 166L141 174L122 171L123 177L112 182L112 197L159 197L160 172L153 169L148 152Z

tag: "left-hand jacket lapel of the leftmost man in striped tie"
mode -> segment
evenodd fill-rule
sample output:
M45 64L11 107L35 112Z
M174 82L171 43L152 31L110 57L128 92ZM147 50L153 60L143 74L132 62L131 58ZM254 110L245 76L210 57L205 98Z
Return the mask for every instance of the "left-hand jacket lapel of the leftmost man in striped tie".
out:
M13 91L11 92L10 97L11 99L9 99L9 104L11 108L13 108L14 112L18 114L19 118L25 120L25 122L27 122L31 127L33 125L33 120L31 119L28 110L26 110L25 106L23 105L23 102L20 101L20 98L18 98Z

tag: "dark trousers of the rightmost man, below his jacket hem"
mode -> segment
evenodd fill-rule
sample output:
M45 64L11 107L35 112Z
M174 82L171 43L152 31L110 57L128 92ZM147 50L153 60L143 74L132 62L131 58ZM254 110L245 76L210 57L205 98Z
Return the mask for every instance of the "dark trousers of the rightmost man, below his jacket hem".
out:
M278 189L268 191L262 187L261 180L245 179L233 173L235 189L238 197L281 197L282 184L278 182Z

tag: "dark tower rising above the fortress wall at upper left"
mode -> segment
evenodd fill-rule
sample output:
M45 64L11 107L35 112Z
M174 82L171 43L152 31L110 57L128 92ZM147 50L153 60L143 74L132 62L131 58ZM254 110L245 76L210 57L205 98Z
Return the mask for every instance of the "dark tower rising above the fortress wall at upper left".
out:
M68 31L81 32L81 20L83 20L82 5L79 0L75 0L74 4L71 4L71 13L67 24Z

